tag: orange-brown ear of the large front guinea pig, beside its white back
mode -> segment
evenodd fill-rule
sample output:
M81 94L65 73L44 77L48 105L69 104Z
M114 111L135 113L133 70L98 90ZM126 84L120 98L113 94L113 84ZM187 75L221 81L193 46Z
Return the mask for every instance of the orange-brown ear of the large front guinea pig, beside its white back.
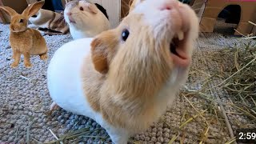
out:
M106 74L108 70L108 63L106 58L106 47L101 38L94 38L91 46L91 59L94 63L94 68L99 73Z

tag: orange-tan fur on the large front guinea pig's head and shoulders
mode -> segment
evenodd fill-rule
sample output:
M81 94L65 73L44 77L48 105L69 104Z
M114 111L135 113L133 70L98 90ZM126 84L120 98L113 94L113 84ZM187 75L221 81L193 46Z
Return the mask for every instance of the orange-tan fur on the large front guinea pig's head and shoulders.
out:
M159 109L165 110L161 106L166 102L159 102L155 96L172 69L167 43L155 42L150 27L140 18L138 14L128 16L117 29L98 35L82 71L90 106L110 124L133 131L146 130L162 114ZM122 42L126 27L130 36Z

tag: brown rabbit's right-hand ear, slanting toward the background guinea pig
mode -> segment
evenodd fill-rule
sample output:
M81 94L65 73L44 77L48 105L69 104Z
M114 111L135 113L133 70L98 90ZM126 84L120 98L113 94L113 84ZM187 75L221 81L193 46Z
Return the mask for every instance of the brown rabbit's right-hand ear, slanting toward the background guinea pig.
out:
M44 4L45 1L34 2L30 6L26 7L22 14L25 15L26 18L30 18L32 15L37 14L38 10L40 10Z

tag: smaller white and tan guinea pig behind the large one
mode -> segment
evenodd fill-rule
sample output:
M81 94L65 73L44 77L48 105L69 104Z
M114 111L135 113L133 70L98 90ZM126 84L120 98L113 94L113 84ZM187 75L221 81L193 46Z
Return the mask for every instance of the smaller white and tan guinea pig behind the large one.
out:
M106 10L97 3L76 0L66 3L64 18L74 39L92 38L110 29Z

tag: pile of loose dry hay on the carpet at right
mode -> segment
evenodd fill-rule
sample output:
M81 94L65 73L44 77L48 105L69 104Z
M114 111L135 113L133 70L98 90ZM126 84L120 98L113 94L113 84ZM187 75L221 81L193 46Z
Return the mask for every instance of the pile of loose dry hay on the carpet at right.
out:
M253 22L250 23L256 26ZM204 77L202 81L197 82L202 83L202 86L198 90L190 90L186 87L186 90L182 91L184 98L192 96L206 100L208 105L204 109L214 112L217 120L226 122L231 138L226 143L235 143L234 131L236 130L230 125L230 119L227 114L232 112L226 112L226 107L237 110L237 113L234 114L246 116L250 123L256 122L256 42L253 34L242 34L242 36L239 43L234 44L233 47L230 46L226 49L218 50L219 55L213 57L213 60L216 61L218 61L216 58L220 56L221 61L228 58L229 64L225 65L225 62L220 62L223 63L222 69L214 70L213 74L208 74L203 70L192 69L191 75L198 73L202 75L201 77ZM206 60L202 58L202 62L206 62ZM230 102L222 102L219 95L215 94L216 91L226 92L230 97ZM187 98L186 100L189 102ZM191 103L190 105L192 106ZM199 114L198 112L197 116L200 116ZM203 117L201 118L203 119ZM205 142L210 126L206 120L203 119L203 121L206 123L206 129L202 134L200 143Z

